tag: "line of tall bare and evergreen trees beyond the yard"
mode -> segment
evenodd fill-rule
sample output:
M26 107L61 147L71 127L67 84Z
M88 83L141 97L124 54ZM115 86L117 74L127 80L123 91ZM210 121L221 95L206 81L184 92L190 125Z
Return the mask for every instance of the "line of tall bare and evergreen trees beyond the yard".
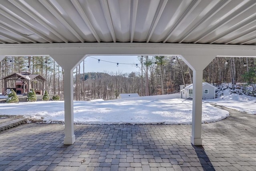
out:
M140 72L85 73L85 61L74 70L74 100L116 99L120 93L140 96L177 93L179 85L192 84L192 70L179 56L138 56ZM49 56L6 57L0 62L0 78L14 72L29 71L46 80L49 94L64 98L62 68ZM247 83L255 89L256 58L215 58L203 71L203 82L215 86L223 83ZM33 85L36 82L32 83ZM2 88L3 80L0 80ZM15 87L9 81L8 87Z

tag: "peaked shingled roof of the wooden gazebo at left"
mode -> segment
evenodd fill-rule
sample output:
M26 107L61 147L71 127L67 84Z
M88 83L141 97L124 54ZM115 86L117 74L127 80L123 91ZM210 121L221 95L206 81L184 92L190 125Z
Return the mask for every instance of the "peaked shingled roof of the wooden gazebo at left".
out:
M37 81L46 81L41 75L39 74L33 74L33 75L23 75L20 73L13 73L9 76L6 76L5 78L1 78L1 80L4 79L8 79L8 80L20 80L20 81L32 81L32 80L37 80Z

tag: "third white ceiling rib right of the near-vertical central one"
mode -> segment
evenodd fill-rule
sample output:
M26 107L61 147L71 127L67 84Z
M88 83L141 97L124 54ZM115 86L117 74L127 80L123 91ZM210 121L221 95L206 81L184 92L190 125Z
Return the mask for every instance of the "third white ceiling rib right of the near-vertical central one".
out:
M198 21L182 38L180 38L179 43L182 43L190 34L196 30L201 24L206 22L212 16L214 16L217 12L219 12L226 4L228 4L231 0L222 0L218 4L216 4L200 21Z

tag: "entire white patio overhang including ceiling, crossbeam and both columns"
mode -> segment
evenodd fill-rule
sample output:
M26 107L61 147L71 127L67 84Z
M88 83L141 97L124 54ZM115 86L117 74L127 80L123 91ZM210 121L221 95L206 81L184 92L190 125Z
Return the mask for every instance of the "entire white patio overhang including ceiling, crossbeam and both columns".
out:
M218 56L256 57L255 11L255 0L6 0L0 4L0 60L48 55L58 62L64 144L72 144L72 70L84 58L179 55L193 70L191 142L202 145L202 70Z

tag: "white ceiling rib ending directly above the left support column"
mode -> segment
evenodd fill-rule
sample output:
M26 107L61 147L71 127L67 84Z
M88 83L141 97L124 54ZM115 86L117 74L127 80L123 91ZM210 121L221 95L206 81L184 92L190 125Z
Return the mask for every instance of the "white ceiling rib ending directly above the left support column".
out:
M31 18L33 18L34 20L36 20L39 24L41 24L42 26L44 26L44 28L48 29L50 32L52 32L55 36L57 36L58 38L60 38L60 40L62 40L63 42L68 43L68 40L66 38L64 38L62 35L60 35L56 30L54 30L53 28L51 28L48 24L46 24L46 22L44 22L44 20L42 20L41 18L39 18L38 16L36 16L36 14L34 14L33 12L31 12L30 10L27 10L27 8L25 8L22 4L20 4L17 1L14 0L8 0L9 2L11 2L12 4L14 4L17 8L19 8L20 10L22 10L23 12L25 12L28 16L30 16Z

